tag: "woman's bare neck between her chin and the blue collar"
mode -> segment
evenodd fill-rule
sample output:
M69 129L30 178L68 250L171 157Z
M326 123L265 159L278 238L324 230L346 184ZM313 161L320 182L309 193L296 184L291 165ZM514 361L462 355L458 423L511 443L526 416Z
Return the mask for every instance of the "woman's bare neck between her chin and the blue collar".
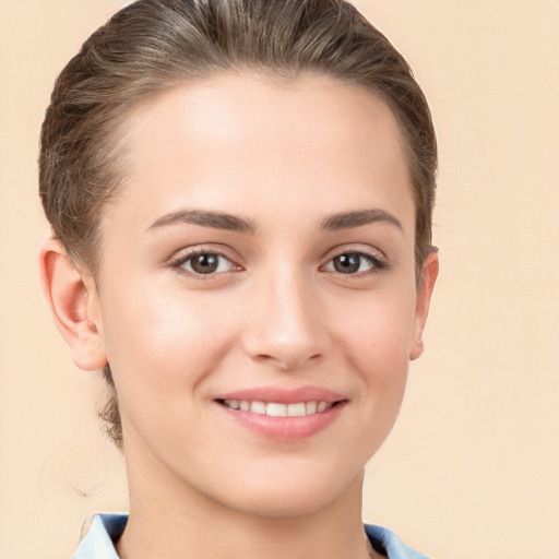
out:
M326 507L295 516L233 510L169 481L147 483L129 468L130 519L117 545L121 559L380 557L362 528L362 473Z

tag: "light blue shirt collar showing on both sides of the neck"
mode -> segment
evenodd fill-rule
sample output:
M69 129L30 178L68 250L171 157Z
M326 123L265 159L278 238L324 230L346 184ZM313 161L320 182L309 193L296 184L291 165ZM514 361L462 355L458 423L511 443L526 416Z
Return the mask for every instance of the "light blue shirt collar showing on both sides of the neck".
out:
M73 559L119 559L115 543L122 535L127 521L128 514L96 514ZM404 545L390 530L366 524L365 532L372 547L389 559L428 559Z

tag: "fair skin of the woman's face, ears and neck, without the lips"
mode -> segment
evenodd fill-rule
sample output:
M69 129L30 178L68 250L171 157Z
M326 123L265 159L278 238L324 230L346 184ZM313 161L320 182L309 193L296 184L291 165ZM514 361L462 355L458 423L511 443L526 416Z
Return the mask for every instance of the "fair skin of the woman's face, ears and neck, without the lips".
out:
M120 556L374 557L364 466L397 416L438 273L431 254L416 284L390 109L326 78L223 74L139 107L122 140L130 168L102 217L97 277L56 240L41 251L76 365L110 362L117 385L130 485ZM192 211L246 227L187 223ZM324 228L341 212L369 218ZM191 249L223 254L218 270L195 274ZM358 253L357 272L336 270ZM251 432L215 402L271 385L346 402L296 441Z

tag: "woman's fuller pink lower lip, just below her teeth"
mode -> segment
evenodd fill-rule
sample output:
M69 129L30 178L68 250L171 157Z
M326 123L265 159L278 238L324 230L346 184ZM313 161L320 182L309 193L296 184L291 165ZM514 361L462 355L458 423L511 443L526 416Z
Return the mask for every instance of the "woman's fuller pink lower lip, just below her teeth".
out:
M299 441L326 429L342 413L346 402L317 414L296 417L272 417L252 414L217 404L228 417L250 431L276 441Z

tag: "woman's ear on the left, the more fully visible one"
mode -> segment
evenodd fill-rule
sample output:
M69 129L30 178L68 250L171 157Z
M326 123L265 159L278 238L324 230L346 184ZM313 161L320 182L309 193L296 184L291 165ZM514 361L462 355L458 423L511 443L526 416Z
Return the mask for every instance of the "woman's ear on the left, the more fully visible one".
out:
M99 331L100 311L93 276L82 274L63 245L48 239L39 252L40 281L52 318L80 369L94 371L107 365Z

